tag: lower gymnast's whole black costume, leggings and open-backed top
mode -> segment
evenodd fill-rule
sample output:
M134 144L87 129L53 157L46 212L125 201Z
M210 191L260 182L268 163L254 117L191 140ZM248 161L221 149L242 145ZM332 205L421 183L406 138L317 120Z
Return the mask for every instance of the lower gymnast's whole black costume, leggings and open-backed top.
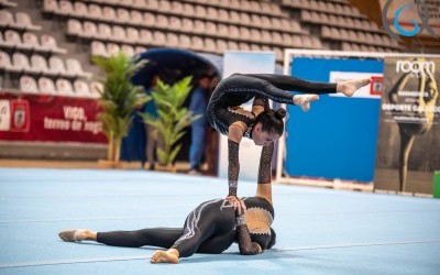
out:
M243 198L251 213L251 218L258 220L258 227L250 231L252 242L265 250L274 240L271 224L274 219L272 205L261 197ZM255 221L250 221L255 222ZM240 251L245 251L246 245L238 240L235 231L235 215L232 207L224 199L209 200L198 206L189 213L183 229L153 228L136 231L98 232L97 241L114 246L140 248L153 245L174 248L182 257L194 253L218 254L227 250L234 241L239 241Z

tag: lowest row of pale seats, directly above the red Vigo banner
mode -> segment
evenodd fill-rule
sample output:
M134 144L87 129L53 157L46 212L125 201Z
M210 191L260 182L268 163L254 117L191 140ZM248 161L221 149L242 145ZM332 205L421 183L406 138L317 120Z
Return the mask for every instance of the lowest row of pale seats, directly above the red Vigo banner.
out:
M31 95L51 95L78 98L99 98L97 87L99 82L91 82L90 86L84 80L75 80L74 85L67 79L58 78L53 81L47 77L40 77L37 80L31 76L20 77L20 91Z

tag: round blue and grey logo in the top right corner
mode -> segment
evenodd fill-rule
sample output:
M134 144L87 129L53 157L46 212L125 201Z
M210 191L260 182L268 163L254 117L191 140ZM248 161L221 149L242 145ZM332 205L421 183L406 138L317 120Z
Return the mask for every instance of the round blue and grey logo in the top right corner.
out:
M400 41L399 35L411 37L411 36L417 35L418 33L422 32L424 30L427 30L429 34L431 34L433 37L437 38L436 33L428 25L429 10L428 10L428 6L425 3L425 0L415 0L415 3L404 4L403 7L397 9L394 13L394 18L392 21L393 21L393 25L396 29L398 34L393 32L393 30L389 25L391 22L388 22L388 20L387 20L388 9L392 6L393 1L394 0L388 0L385 3L384 9L382 10L382 24L384 26L384 30L388 33L389 36L392 36L394 40ZM419 26L419 24L417 23L416 20L409 20L409 22L406 22L406 23L413 24L413 29L407 31L400 26L399 16L404 10L409 9L411 7L417 7L417 13L421 20L421 26Z

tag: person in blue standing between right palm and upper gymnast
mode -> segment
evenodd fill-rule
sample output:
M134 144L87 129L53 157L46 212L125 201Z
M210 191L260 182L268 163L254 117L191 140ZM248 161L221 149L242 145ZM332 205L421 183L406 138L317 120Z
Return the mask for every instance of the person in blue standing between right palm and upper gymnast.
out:
M189 147L190 175L200 174L201 158L206 148L208 120L205 113L208 107L210 85L211 77L207 74L201 75L199 86L193 91L189 102L189 111L202 116L191 124L191 145Z

